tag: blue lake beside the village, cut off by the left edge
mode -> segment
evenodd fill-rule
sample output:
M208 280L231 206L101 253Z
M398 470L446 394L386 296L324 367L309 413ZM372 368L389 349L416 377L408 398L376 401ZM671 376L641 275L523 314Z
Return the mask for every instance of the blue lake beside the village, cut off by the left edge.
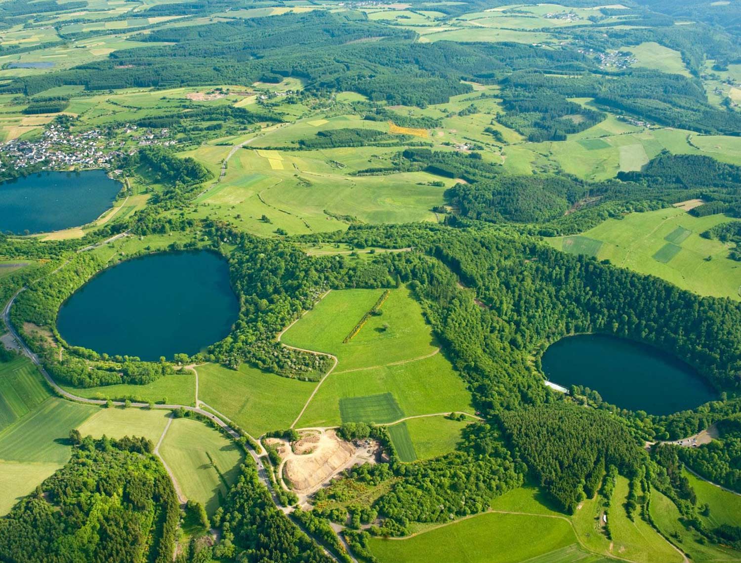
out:
M0 231L48 233L90 223L121 191L103 170L41 172L0 183Z

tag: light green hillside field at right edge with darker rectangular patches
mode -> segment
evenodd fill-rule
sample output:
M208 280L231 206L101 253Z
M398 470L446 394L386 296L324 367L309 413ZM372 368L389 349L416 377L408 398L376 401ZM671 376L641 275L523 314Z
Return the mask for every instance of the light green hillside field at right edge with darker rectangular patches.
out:
M700 236L730 220L722 215L697 218L672 207L608 219L580 236L547 240L559 250L609 259L700 295L740 299L741 264L726 258L725 244Z

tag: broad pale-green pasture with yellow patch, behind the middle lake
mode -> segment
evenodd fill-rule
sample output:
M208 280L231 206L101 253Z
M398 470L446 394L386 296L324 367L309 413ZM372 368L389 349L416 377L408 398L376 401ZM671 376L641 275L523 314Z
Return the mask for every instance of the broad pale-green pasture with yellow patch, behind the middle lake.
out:
M368 151L238 150L224 179L199 199L191 214L216 213L240 230L263 236L273 235L277 228L289 234L345 229L348 223L338 216L373 224L438 220L431 209L444 203L445 188L425 184L439 177L424 172L346 176L350 166L342 161L358 162L364 153ZM358 162L360 167L375 164ZM256 174L259 181L253 181ZM453 184L449 179L445 183Z

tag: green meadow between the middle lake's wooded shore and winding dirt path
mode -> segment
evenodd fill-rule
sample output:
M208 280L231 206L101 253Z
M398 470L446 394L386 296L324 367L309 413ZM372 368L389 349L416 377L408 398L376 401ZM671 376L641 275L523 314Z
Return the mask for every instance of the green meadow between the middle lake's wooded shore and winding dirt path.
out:
M197 367L199 399L253 436L290 426L316 383L276 376L242 364L234 371L218 364Z

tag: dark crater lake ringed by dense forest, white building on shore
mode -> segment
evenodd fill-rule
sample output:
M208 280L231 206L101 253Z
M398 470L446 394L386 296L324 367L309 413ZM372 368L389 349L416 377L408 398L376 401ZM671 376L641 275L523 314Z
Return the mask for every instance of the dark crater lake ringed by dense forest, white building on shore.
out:
M717 399L693 367L646 344L603 334L567 336L542 356L551 382L596 390L606 402L663 415Z

